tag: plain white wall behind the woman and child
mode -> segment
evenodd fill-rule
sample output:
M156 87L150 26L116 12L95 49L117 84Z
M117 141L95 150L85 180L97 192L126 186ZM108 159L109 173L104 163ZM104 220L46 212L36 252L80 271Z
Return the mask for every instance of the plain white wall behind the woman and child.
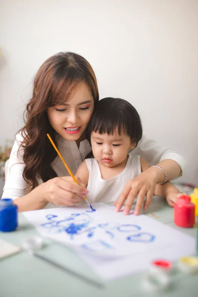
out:
M22 125L33 77L46 58L89 60L100 98L121 97L144 132L187 160L198 186L197 0L0 0L0 145Z

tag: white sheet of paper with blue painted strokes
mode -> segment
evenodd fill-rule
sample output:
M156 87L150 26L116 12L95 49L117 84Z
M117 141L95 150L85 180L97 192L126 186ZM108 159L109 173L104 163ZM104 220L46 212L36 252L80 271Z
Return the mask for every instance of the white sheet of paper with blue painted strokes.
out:
M77 250L105 279L148 268L151 260L175 260L196 252L196 240L145 215L115 213L104 203L24 212L42 236Z

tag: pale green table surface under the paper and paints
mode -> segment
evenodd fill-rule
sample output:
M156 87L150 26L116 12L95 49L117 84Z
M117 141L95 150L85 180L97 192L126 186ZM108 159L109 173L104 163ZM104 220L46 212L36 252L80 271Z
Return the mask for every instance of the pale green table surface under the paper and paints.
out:
M180 228L173 222L173 208L165 199L154 196L146 214L186 234L196 237L196 228ZM15 232L0 233L0 238L20 245L22 240L38 235L22 213ZM91 268L69 248L45 240L45 247L38 252L56 263L99 280ZM115 281L104 282L97 288L61 269L21 251L0 260L0 297L198 297L198 274L178 278L165 292L148 293L142 287L144 273L133 274Z

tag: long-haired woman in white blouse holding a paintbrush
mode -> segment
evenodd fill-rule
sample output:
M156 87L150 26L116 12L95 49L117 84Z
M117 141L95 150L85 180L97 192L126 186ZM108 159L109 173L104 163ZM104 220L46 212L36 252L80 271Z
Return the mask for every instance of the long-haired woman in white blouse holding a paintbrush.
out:
M96 76L84 57L60 52L43 63L26 107L25 126L11 151L3 198L15 199L19 211L26 211L47 205L74 205L88 193L84 185L75 184L66 176L68 173L46 134L49 133L75 174L91 151L86 128L98 100ZM137 195L136 213L145 196L147 208L156 184L177 178L185 164L179 154L146 137L133 153L158 167L150 167L127 183L116 203L119 211L127 199L125 213L129 213Z

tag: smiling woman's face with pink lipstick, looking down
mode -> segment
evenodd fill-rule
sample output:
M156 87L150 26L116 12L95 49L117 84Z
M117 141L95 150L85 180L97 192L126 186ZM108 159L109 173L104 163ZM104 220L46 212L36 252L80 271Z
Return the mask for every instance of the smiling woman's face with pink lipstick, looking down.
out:
M69 100L47 110L49 123L64 139L77 141L86 130L94 110L94 99L85 82L80 82Z

